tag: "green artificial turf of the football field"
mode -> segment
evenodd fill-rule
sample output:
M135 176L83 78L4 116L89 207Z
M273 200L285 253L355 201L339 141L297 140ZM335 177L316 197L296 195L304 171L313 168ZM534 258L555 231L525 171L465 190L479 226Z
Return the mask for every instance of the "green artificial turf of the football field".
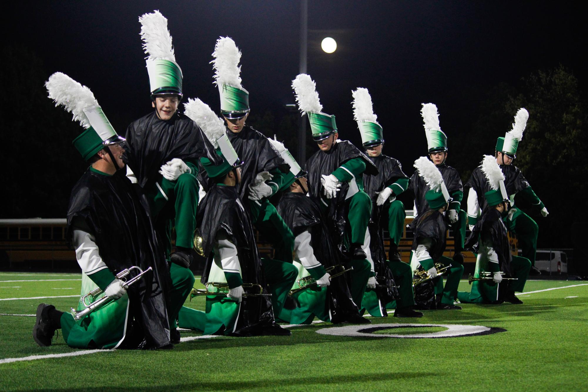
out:
M53 282L6 280L78 279ZM78 295L79 274L0 273L0 299ZM198 280L197 280L198 282ZM525 290L584 282L530 281ZM17 287L18 286L18 287ZM468 290L467 282L460 290ZM588 286L522 294L523 305L465 304L426 311L421 319L370 317L384 323L467 324L506 331L447 339L347 337L316 333L328 323L292 327L290 337L212 337L173 350L98 351L0 363L0 390L588 390ZM41 302L60 310L78 299L0 301L0 313L34 314ZM186 302L202 309L203 297ZM34 317L0 316L0 360L71 353L61 336L51 347L32 340ZM413 331L411 331L413 330ZM386 329L428 333L443 328ZM182 331L182 338L199 333Z

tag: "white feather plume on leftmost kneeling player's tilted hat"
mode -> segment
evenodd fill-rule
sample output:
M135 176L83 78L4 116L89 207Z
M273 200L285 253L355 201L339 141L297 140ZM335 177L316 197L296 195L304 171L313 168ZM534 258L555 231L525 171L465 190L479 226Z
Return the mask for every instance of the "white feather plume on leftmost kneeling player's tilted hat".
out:
M55 106L64 106L65 110L74 115L74 121L79 121L85 129L90 128L90 122L83 110L98 105L98 100L94 98L89 88L61 72L55 72L49 76L45 87L49 98L54 100Z

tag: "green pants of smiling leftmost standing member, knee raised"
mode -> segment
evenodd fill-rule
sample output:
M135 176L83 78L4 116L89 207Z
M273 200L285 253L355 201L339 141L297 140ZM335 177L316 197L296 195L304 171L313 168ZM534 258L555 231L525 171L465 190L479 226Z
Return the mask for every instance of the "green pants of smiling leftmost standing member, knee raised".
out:
M160 185L161 190L157 186L153 186L149 195L151 196L151 213L155 219L163 218L173 222L168 225L168 239L165 244L167 254L169 255L171 252L172 225L176 229L176 246L192 248L194 231L196 230L198 180L191 173L183 173L175 181L162 178ZM159 217L160 213L164 215Z

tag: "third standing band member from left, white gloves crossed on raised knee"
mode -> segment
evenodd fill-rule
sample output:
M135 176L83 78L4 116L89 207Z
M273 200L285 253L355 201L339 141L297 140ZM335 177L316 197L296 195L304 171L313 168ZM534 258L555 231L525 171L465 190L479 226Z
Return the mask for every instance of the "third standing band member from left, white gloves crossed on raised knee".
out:
M301 73L292 81L299 109L308 115L312 138L319 151L307 161L310 196L328 210L328 219L336 226L332 239L346 249L353 266L350 289L361 307L366 287L375 288L376 278L369 254L368 222L372 210L369 196L363 192L363 174L377 173L372 161L352 143L338 140L335 116L322 113L315 82Z

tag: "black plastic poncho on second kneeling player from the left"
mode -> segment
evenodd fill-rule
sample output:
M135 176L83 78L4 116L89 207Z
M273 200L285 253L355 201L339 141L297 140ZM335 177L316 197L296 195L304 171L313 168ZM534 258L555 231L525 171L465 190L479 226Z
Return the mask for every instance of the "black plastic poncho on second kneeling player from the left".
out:
M253 226L235 186L211 186L198 206L196 222L202 230L202 248L207 256L202 283L208 282L208 275L214 262L213 248L216 236L222 230L237 248L243 282L260 284L263 293L269 293L263 277ZM239 312L236 334L243 331L247 331L246 334L256 334L258 328L275 324L269 296L244 296Z

